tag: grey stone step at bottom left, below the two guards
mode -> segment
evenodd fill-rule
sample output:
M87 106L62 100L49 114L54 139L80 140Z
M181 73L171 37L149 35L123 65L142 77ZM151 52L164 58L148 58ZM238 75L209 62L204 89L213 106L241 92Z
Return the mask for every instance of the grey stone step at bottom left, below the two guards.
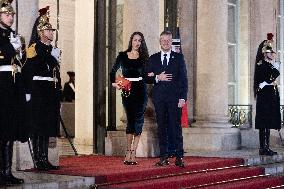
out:
M45 173L33 173L18 171L15 176L23 178L25 184L8 187L9 189L88 189L95 184L93 177L54 175ZM0 187L1 188L1 187Z

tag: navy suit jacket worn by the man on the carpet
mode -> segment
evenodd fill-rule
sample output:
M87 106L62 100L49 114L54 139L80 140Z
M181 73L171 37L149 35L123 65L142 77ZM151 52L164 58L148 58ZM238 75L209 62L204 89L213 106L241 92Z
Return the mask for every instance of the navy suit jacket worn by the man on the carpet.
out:
M162 73L172 74L171 81L156 82L156 75ZM161 62L161 52L155 53L149 58L146 66L146 73L153 72L153 77L146 77L147 83L153 83L153 100L154 101L178 101L178 99L187 99L187 71L183 55L171 51L170 59L167 66Z

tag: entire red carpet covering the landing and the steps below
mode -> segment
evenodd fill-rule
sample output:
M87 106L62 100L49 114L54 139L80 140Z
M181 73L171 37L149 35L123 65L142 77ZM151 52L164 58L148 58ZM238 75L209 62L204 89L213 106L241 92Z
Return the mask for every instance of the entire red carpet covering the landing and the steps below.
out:
M48 173L95 177L97 188L101 189L175 189L181 187L237 189L266 188L266 186L284 184L282 177L234 180L234 182L218 184L217 182L221 181L264 174L262 168L241 166L244 163L242 159L185 157L185 168L176 167L175 159L170 159L170 165L166 167L154 166L158 158L137 158L137 160L138 165L133 166L124 165L123 157L96 155L62 157L60 158L61 169ZM224 169L224 167L229 168ZM246 187L246 185L251 187Z

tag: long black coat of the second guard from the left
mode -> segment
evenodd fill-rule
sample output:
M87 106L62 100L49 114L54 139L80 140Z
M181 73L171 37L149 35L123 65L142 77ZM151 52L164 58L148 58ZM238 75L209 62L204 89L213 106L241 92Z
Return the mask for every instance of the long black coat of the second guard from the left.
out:
M60 134L61 79L59 64L51 50L51 45L40 41L31 45L23 75L26 93L31 94L32 133L57 137Z

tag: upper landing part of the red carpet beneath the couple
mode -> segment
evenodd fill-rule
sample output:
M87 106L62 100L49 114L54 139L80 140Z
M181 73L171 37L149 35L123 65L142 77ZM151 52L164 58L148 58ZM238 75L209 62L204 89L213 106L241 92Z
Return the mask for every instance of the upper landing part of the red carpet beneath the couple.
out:
M185 157L186 167L181 169L170 159L170 166L156 167L158 158L137 158L138 165L124 165L123 157L115 156L80 156L60 158L60 170L50 173L96 177L96 183L121 180L143 179L155 175L166 175L206 168L218 168L243 163L242 159Z

